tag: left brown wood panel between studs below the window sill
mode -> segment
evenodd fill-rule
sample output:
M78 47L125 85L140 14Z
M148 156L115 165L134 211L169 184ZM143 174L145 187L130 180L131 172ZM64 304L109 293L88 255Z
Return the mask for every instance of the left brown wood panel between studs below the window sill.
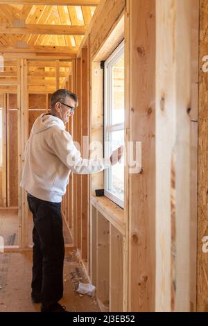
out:
M98 302L103 305L103 310L109 309L109 282L110 282L110 223L97 213L97 288L96 296Z

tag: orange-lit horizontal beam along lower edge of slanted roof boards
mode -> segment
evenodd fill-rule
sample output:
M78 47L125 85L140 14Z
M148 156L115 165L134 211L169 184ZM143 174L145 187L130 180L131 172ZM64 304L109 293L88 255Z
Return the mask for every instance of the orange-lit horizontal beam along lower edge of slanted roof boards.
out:
M19 47L19 46L8 46L8 45L1 45L0 52L3 51L7 52L15 52L15 53L64 53L67 55L74 55L78 51L77 47L69 47L69 46L44 46L44 45L35 45L35 46L28 46L26 48Z

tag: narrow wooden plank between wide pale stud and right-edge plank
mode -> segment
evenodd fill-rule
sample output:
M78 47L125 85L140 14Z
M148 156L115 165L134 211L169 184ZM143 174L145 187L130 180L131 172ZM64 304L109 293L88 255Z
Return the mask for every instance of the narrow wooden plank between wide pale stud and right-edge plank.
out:
M191 0L191 230L190 230L190 300L191 311L196 311L197 280L197 170L198 170L198 51L199 0Z

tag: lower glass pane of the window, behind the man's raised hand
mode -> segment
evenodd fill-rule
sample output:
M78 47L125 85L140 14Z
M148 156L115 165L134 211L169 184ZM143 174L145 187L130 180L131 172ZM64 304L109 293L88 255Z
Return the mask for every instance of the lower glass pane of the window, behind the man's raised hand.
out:
M114 131L110 134L112 151L123 145L124 143L124 130ZM124 199L124 162L123 157L121 162L112 166L108 172L108 191L114 196Z

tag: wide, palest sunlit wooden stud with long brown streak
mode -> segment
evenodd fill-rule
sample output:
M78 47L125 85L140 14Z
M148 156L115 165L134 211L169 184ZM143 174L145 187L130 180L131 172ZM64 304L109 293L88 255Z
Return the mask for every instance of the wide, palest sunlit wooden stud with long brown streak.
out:
M156 1L156 311L190 311L190 8Z

